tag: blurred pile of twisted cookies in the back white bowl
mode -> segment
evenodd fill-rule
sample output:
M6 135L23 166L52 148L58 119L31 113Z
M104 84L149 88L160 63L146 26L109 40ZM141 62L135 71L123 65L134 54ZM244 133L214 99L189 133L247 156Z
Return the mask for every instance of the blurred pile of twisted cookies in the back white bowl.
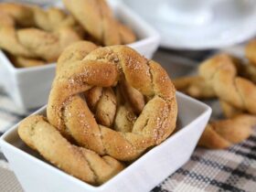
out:
M55 62L64 48L86 39L100 46L129 44L133 31L104 0L64 1L67 10L0 4L0 48L18 68Z

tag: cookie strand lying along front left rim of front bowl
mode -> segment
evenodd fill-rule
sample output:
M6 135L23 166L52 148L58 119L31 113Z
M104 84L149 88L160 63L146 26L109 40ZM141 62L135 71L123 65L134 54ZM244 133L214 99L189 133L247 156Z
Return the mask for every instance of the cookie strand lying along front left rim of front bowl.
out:
M18 134L50 163L90 184L102 184L123 169L123 165L111 156L101 157L69 144L43 116L27 117L19 124Z

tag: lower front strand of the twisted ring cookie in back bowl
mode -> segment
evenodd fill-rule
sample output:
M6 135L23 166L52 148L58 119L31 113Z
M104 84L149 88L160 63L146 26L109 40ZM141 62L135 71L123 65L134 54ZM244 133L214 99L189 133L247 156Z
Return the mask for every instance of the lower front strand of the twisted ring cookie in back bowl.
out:
M64 48L78 40L80 37L69 27L59 28L54 33L36 28L15 30L12 27L5 27L0 29L1 48L16 56L40 58L48 62L57 60Z

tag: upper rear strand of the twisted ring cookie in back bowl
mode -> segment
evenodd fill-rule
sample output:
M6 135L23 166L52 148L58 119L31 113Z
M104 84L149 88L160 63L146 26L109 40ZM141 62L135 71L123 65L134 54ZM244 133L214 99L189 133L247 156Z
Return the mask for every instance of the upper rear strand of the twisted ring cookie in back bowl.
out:
M77 26L72 16L56 7L44 10L35 5L1 3L0 15L12 20L6 23L1 19L1 27L38 27L46 31L54 31L59 27Z

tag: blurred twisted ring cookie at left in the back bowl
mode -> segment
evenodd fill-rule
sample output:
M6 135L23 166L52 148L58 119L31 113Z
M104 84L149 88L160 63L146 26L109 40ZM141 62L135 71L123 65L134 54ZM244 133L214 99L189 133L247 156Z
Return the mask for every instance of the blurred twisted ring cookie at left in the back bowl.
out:
M35 59L52 62L59 58L64 48L80 40L73 29L75 25L72 16L57 8L45 11L37 6L1 3L0 48L17 56L15 60L21 66L31 58L34 59L32 66L42 62Z

